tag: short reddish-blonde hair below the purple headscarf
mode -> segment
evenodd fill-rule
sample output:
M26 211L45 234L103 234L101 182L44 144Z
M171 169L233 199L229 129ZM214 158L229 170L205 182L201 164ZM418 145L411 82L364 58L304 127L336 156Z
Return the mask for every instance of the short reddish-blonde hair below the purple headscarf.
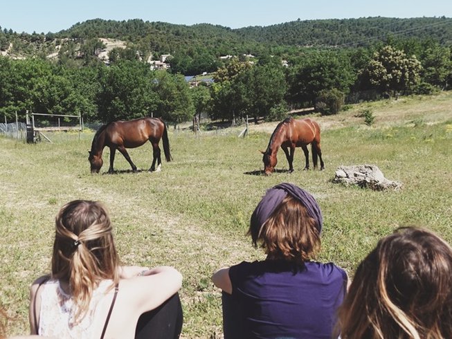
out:
M285 259L303 264L320 250L320 234L316 221L302 203L287 195L271 213L262 227L252 223L248 235L253 244L259 243L271 259Z

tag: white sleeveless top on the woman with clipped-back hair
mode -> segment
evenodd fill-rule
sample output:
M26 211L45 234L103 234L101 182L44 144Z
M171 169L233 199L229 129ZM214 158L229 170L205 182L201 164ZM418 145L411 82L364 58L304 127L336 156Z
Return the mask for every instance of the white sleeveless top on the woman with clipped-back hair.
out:
M64 293L59 280L48 280L42 285L41 309L39 311L39 336L55 338L91 339L92 331L98 324L96 319L97 305L109 293L111 280L103 280L93 291L89 308L77 325L74 326L75 306L71 295ZM108 291L108 293L107 293ZM105 319L102 320L105 322Z

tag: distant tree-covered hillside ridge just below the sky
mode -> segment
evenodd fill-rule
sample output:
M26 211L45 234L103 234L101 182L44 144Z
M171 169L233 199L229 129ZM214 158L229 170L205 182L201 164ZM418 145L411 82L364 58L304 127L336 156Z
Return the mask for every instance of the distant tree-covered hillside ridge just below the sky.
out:
M186 26L141 19L92 19L47 34L29 35L3 28L0 30L0 52L11 57L46 57L58 53L62 41L69 40L75 48L80 48L89 39L100 38L121 40L143 57L159 57L167 53L188 57L202 53L215 57L241 53L293 55L299 53L300 48L369 46L387 39L433 39L442 46L452 46L452 19L368 17L298 20L238 29L212 24Z

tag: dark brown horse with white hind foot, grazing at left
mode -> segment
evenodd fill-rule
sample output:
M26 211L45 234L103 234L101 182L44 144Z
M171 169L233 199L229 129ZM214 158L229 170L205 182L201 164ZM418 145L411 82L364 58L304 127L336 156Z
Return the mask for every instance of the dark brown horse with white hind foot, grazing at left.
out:
M147 140L152 144L154 158L150 172L154 172L157 161L157 171L161 168L161 157L159 141L163 139L163 151L166 161L171 161L170 143L168 141L168 131L166 125L160 118L141 118L130 121L115 121L103 125L98 129L91 144L89 151L89 163L91 164L91 173L99 173L102 161L102 152L105 146L110 147L110 167L108 172L113 173L113 162L116 149L123 154L124 158L132 166L132 171L136 172L136 166L127 153L127 148L135 148L143 145Z

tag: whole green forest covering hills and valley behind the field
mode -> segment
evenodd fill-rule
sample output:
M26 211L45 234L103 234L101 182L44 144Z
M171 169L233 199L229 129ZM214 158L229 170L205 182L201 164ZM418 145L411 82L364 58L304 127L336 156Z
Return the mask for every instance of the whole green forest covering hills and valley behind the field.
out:
M124 42L108 52L102 39ZM0 115L81 114L109 122L196 114L278 120L363 100L451 89L452 19L369 17L231 29L93 19L57 33L0 29ZM148 61L161 55L166 70ZM189 83L184 75L213 82Z

